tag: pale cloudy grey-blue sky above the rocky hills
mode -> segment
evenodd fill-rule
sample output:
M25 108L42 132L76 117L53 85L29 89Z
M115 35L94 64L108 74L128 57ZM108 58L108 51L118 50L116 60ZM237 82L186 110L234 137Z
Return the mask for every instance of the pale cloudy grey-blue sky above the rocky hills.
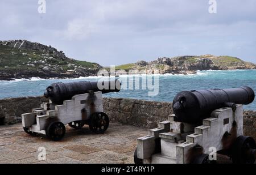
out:
M0 40L52 45L66 56L120 65L158 57L214 54L256 63L256 1L1 0Z

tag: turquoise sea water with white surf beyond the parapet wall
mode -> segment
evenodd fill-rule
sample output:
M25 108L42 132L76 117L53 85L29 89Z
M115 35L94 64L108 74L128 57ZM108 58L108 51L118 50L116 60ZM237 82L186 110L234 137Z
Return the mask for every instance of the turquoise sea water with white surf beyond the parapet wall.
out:
M147 76L147 75L142 75ZM44 90L55 82L97 81L99 78L90 76L77 79L16 79L14 81L0 81L0 99L9 97L27 97L43 95ZM120 92L108 93L106 97L129 99L143 99L154 101L172 101L176 93L184 90L209 88L236 88L250 86L256 92L256 70L228 70L228 71L197 71L192 75L159 75L158 95L148 96L148 89L122 89ZM256 110L256 99L245 109Z

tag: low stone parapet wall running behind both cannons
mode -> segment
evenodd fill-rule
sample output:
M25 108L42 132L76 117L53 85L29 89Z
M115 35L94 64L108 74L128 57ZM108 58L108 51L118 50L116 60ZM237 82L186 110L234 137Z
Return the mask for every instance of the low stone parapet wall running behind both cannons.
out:
M22 113L31 112L32 108L38 108L43 101L47 99L42 96L0 100L0 125L21 122ZM158 101L105 97L103 108L111 121L148 129L156 127L158 122L166 120L168 114L172 114L172 103ZM256 111L244 110L243 130L244 135L256 139Z

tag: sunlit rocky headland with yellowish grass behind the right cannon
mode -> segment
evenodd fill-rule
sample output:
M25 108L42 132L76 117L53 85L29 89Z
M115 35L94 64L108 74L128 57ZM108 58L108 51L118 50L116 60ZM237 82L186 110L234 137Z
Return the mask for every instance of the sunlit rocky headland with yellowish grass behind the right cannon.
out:
M131 64L129 69L134 70L158 70L160 74L195 74L197 70L234 70L256 69L254 63L242 61L236 57L213 56L180 56L173 58L158 58L151 62L139 61ZM121 65L120 67L125 67Z

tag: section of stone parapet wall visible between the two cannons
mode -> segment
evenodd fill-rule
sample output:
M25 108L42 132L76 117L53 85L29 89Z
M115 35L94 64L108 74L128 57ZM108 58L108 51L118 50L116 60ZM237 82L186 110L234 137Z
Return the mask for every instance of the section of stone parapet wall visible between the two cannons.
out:
M154 128L172 114L172 103L104 98L103 108L113 121Z

